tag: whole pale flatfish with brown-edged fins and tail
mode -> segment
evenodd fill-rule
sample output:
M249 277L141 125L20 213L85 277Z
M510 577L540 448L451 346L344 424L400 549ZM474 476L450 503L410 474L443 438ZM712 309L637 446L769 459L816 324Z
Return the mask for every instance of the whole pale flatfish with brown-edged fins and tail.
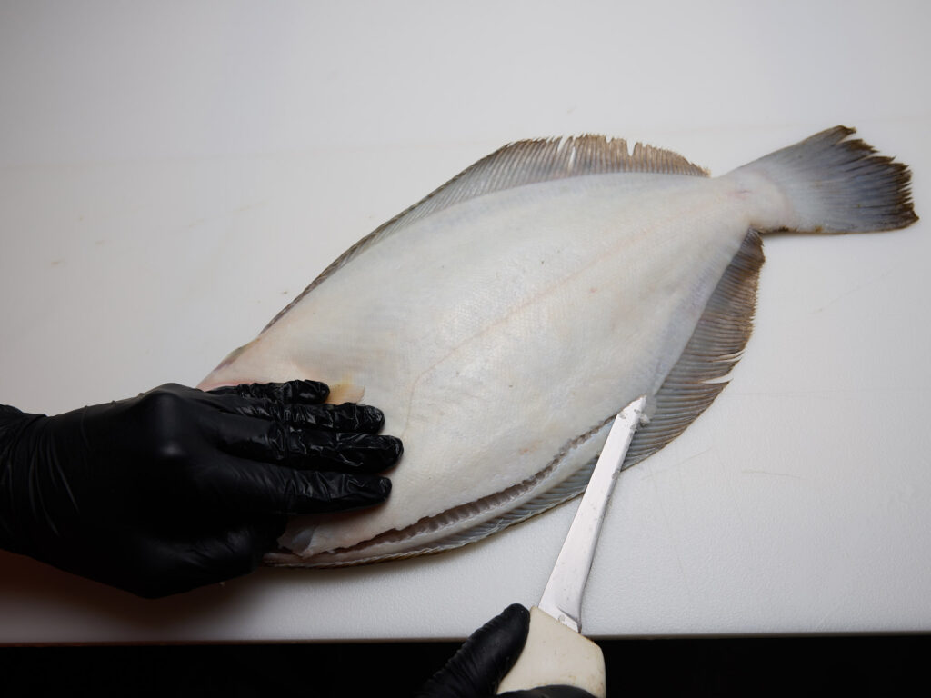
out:
M350 248L201 383L295 378L385 410L385 505L296 517L269 564L340 566L477 541L585 489L614 415L625 467L721 392L751 331L761 234L917 220L908 168L831 128L718 178L679 154L519 141Z

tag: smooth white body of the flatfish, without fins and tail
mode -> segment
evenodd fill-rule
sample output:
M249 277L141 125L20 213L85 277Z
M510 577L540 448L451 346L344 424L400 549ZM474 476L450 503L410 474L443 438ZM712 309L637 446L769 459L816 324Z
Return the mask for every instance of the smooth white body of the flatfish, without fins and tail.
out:
M482 195L362 250L202 383L323 381L404 441L385 505L298 518L281 543L309 557L404 530L385 549L413 550L569 477L659 389L753 204L723 178L591 175Z

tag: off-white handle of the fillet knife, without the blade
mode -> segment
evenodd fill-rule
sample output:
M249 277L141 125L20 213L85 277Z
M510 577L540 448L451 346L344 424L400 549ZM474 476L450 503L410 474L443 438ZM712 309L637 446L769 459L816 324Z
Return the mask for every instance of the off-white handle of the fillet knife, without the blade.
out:
M604 656L590 639L534 606L527 642L517 663L498 685L498 692L553 685L576 686L596 698L605 698Z

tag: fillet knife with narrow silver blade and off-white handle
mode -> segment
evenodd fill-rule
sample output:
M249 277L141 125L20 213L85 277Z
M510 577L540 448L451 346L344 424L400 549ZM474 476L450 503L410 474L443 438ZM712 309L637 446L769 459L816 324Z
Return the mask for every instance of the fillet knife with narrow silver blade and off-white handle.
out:
M614 480L645 404L646 396L638 397L614 418L543 597L530 610L527 642L517 663L498 685L499 693L569 685L604 698L604 657L598 645L580 634L582 593Z

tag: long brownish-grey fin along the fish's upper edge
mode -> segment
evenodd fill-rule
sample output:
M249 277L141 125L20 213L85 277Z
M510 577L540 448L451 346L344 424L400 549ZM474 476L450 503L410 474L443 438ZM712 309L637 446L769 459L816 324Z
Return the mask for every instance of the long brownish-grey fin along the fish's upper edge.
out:
M637 143L633 153L630 153L624 139L583 135L508 143L464 169L439 189L383 223L347 249L324 269L310 286L275 315L262 331L274 325L296 303L301 302L305 295L360 252L431 213L481 195L526 184L610 172L654 172L708 177L708 170L699 168L672 151Z

